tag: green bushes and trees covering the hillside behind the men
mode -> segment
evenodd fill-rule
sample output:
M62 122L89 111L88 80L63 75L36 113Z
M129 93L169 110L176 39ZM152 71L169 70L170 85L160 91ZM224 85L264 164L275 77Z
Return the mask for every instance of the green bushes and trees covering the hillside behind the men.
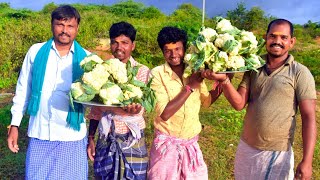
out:
M74 4L81 14L80 31L77 37L85 48L92 49L99 45L99 39L108 38L108 29L112 23L128 21L137 28L136 50L134 57L150 68L163 63L156 37L164 26L177 26L188 32L192 40L201 27L201 10L191 4L182 4L171 15L163 14L159 9L146 7L134 1L121 2L112 6ZM47 4L41 11L28 9L15 10L7 3L0 3L0 89L14 88L23 58L28 48L37 42L44 42L51 36L50 13L57 5ZM243 3L227 13L228 19L239 29L253 31L261 37L268 22L275 17L266 16L259 7L245 9ZM212 18L205 19L205 26L210 27ZM319 44L320 24L308 22L295 25L298 43L292 54L311 69L317 85L320 82ZM319 85L317 86L319 88Z

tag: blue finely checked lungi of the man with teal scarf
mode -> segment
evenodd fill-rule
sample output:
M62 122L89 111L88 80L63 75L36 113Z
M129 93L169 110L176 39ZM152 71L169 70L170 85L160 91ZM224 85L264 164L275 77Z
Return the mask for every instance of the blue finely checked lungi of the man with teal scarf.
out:
M29 139L26 179L88 179L87 138L79 141Z

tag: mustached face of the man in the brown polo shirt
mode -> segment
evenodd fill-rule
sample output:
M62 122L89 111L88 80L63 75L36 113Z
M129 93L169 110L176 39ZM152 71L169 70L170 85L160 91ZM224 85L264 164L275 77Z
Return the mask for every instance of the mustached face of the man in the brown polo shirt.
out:
M266 35L266 49L271 57L288 56L294 46L295 38L290 35L289 24L274 24Z

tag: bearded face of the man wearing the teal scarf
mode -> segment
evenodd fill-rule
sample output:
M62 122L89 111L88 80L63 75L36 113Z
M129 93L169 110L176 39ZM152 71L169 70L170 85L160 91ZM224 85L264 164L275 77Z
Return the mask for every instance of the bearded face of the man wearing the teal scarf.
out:
M78 22L75 18L67 20L54 19L51 30L55 43L58 45L71 45L78 34Z

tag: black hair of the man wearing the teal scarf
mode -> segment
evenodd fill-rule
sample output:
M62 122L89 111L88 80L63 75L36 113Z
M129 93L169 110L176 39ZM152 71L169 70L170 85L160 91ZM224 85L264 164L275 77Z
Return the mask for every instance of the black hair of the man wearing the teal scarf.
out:
M54 11L51 13L51 24L53 23L53 20L70 20L72 18L75 18L80 23L80 14L77 11L76 8L70 6L70 5L61 5L57 7Z

